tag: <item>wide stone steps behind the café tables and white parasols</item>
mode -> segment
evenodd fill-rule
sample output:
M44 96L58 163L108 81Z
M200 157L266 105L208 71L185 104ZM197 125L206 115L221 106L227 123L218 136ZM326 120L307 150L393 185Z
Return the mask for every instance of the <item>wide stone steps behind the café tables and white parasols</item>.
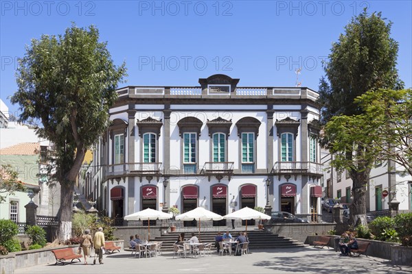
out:
M239 235L239 232L244 230L230 230L231 236L236 238ZM155 241L163 242L161 249L163 251L173 251L173 244L176 242L179 237L180 232L169 232L168 234L163 234L162 236L156 237ZM198 236L198 233L195 233ZM304 247L305 245L297 240L290 238L285 238L279 236L278 234L273 234L271 232L252 230L247 232L249 236L249 249L278 249L278 248L290 248L290 247ZM202 242L215 242L214 238L216 232L201 232L201 241ZM185 232L185 240L188 240L191 237L191 233ZM212 248L215 249L214 245Z

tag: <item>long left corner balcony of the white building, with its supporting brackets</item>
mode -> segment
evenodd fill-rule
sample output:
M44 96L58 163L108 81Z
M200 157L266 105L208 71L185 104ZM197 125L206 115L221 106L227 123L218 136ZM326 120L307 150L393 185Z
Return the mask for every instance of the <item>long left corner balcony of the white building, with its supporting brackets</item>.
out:
M126 176L146 176L149 181L155 177L159 177L163 173L163 165L161 162L135 162L124 164L108 164L106 166L106 176L108 179L115 177Z

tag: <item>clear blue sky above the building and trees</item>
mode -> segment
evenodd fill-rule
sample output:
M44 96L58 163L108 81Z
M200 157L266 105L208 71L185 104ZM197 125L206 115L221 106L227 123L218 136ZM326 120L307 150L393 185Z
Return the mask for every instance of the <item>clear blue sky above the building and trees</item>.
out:
M41 34L62 34L75 22L96 25L115 64L126 61L127 83L197 86L216 73L239 86L318 89L321 61L363 7L393 22L398 70L412 87L411 1L1 1L0 93L16 90L17 58Z

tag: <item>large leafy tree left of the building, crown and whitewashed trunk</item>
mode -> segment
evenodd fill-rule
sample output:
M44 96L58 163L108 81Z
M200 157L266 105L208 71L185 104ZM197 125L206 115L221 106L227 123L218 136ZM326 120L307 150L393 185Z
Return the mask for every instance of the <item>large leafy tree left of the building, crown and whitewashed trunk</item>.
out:
M108 125L108 108L126 75L117 67L94 26L72 25L64 35L33 39L17 69L19 119L40 119L36 132L56 147L56 178L61 185L60 240L71 234L73 186L84 154Z

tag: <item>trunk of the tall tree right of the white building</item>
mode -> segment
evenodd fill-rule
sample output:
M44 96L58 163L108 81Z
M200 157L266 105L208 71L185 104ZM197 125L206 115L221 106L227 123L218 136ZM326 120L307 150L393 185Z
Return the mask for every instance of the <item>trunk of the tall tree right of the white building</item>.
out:
M365 194L369 182L369 172L370 169L366 169L354 173L354 176L351 175L353 180L352 195L354 197L353 212L351 212L353 219L351 218L351 220L354 226L364 225L367 227Z

